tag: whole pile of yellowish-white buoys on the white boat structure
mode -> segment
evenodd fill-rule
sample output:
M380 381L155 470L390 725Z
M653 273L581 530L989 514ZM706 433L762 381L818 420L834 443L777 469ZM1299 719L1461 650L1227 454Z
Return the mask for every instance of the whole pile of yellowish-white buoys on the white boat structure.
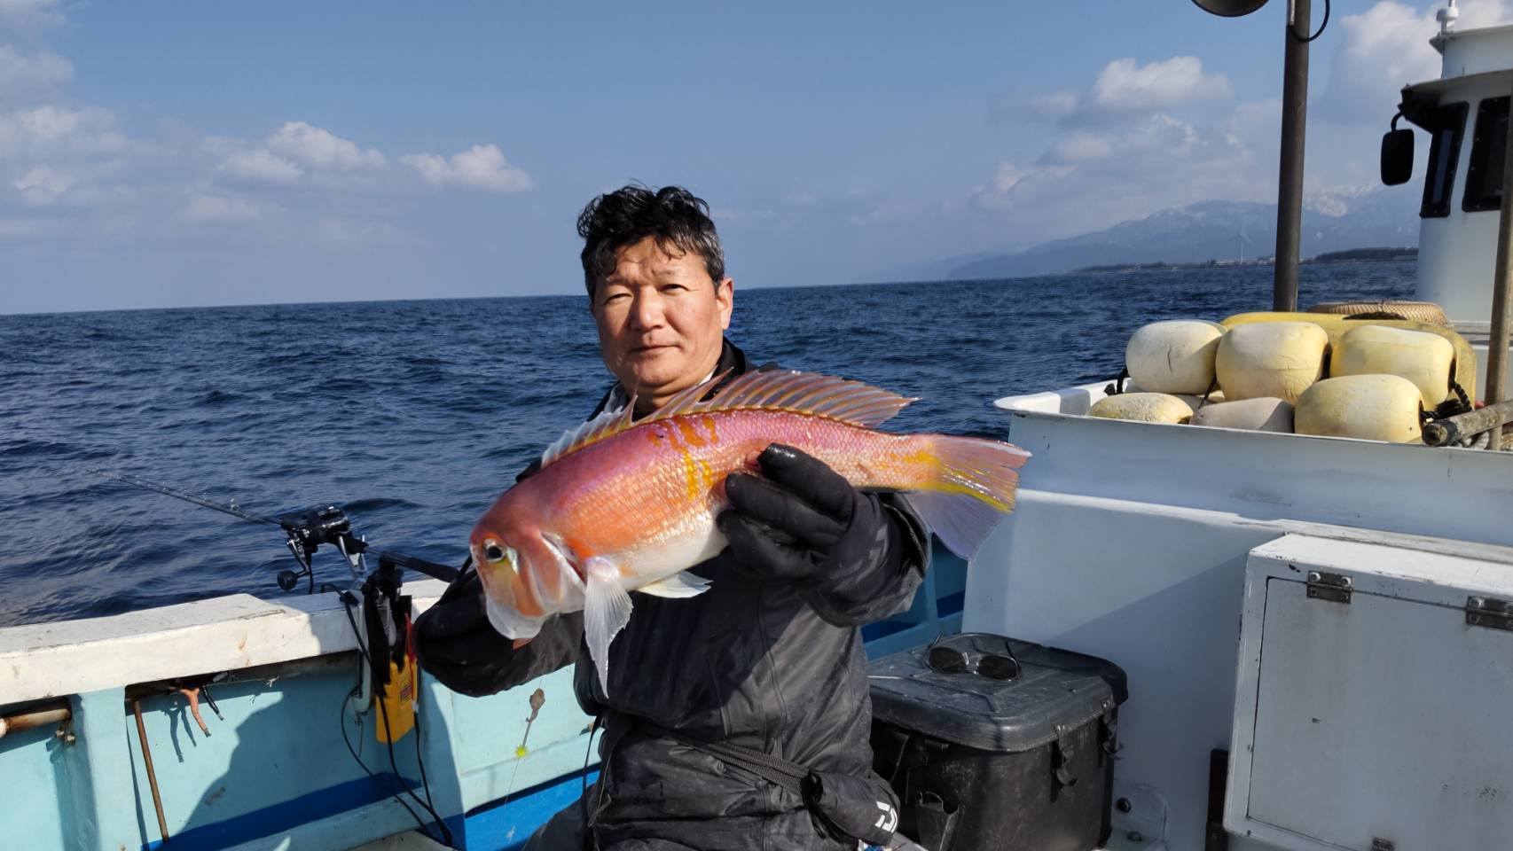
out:
M1088 413L1148 423L1422 441L1424 411L1454 398L1454 331L1396 326L1415 325L1407 320L1309 319L1242 314L1224 323L1179 319L1145 325L1124 349L1130 391L1104 396Z

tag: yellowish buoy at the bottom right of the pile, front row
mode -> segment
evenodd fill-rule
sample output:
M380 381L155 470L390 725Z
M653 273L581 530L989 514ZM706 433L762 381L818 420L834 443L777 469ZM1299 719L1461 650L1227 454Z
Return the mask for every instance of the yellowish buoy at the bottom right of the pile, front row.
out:
M1303 391L1294 416L1298 434L1418 443L1424 410L1416 384L1400 375L1325 378Z

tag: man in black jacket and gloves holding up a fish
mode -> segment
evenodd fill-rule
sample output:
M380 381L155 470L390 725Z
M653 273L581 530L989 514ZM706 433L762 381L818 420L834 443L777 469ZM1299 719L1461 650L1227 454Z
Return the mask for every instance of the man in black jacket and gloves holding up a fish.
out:
M734 283L702 200L626 186L590 203L578 233L599 352L616 378L599 410L634 396L646 414L725 370L753 369L723 337ZM611 697L583 645L581 614L513 648L489 626L469 571L421 617L421 664L454 691L493 694L576 664L578 701L604 721L599 781L527 848L856 848L859 834L817 804L816 777L828 778L826 800L850 794L868 827L891 830L896 801L870 771L858 627L909 605L927 531L902 496L859 493L791 447L758 461L760 478L726 479L732 508L717 525L728 549L693 568L710 591L637 596L610 648ZM710 750L722 747L719 757ZM743 753L812 772L808 786L763 778Z

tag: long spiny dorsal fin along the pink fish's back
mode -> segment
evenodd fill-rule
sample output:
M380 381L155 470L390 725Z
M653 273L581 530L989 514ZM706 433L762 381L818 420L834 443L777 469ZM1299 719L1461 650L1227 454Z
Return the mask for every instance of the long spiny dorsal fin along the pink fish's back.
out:
M705 399L710 388L719 387L729 373L731 370L725 370L704 384L679 391L655 413L638 420L631 416L631 405L605 411L557 438L542 455L542 466L545 467L622 431L687 414L782 411L873 428L888 422L915 401L861 381L784 369L738 375L713 398Z

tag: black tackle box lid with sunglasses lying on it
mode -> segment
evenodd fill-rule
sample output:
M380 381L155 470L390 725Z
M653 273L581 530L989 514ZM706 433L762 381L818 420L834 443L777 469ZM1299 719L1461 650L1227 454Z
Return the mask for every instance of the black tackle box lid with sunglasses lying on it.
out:
M1056 739L1056 727L1076 729L1124 703L1129 691L1118 665L988 633L961 633L932 647L1002 653L1020 673L997 680L977 673L930 668L929 647L915 647L868 668L871 715L897 727L979 750L1020 753Z

